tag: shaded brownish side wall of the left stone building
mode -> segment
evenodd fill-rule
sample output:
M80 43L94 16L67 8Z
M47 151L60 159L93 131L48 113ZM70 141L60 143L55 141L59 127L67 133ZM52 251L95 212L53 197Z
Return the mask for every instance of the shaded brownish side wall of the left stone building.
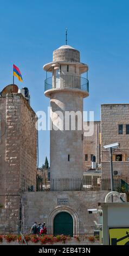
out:
M21 187L23 177L30 180L30 185L36 189L37 165L37 130L35 129L36 115L28 102L22 97L21 103L21 152L20 174Z

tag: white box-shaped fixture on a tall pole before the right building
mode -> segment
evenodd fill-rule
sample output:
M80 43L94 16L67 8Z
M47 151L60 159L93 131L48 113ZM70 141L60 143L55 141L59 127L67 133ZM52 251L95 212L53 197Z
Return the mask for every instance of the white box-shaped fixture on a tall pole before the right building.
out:
M114 191L114 184L113 184L113 165L112 165L112 149L117 149L120 147L118 142L105 145L105 149L109 149L109 157L110 157L110 173L111 173L111 191ZM112 202L113 202L113 195L112 195Z

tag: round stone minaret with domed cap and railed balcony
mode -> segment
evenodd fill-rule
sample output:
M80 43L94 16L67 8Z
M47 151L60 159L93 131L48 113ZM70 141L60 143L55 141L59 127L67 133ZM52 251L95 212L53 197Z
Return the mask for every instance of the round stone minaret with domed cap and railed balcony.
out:
M83 98L89 94L88 80L81 74L87 72L88 66L80 62L78 50L63 45L53 52L53 62L43 69L52 73L45 80L44 94L50 98L52 112L61 111L64 117L63 130L50 131L50 178L82 179L83 127L77 129L76 116L76 130L66 130L65 113L83 111ZM52 121L55 123L57 118L59 115L53 114Z

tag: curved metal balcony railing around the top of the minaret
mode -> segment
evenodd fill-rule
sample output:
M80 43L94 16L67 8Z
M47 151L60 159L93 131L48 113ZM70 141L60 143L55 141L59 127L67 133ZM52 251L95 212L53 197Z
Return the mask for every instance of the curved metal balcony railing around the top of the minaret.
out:
M54 88L73 88L89 92L89 81L81 76L60 75L45 80L44 92Z

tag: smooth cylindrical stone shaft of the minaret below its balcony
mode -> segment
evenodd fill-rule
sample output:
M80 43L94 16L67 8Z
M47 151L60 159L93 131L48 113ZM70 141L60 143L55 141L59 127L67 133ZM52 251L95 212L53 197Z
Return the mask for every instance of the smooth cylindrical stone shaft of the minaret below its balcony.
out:
M53 124L58 128L59 116L56 111L63 114L63 130L50 131L50 176L52 179L72 178L78 179L83 176L83 141L82 127L77 130L77 115L75 117L75 129L71 130L71 125L65 129L65 124L70 119L66 119L66 111L80 111L83 108L83 98L76 92L53 93L50 99L50 106L53 111ZM82 120L80 121L82 124ZM69 129L69 130L68 130ZM69 155L69 161L68 161Z

